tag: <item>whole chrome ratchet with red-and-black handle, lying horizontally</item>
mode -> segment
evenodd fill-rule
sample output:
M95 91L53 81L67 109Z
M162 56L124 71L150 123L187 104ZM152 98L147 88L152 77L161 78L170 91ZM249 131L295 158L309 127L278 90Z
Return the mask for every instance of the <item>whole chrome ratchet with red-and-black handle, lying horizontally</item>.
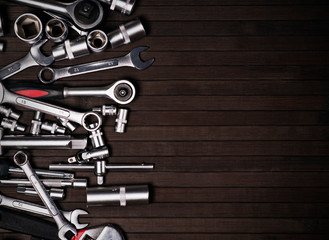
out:
M136 96L135 86L128 80L119 80L111 85L100 87L44 86L24 81L8 81L5 86L18 95L40 100L67 97L106 97L119 104L128 104Z

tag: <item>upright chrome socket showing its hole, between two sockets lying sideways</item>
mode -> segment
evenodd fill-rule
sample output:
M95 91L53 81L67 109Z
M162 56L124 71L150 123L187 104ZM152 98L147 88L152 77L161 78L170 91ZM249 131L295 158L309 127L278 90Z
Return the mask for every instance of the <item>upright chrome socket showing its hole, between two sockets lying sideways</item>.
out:
M87 36L87 45L92 52L103 52L109 43L109 39L102 30L91 31Z

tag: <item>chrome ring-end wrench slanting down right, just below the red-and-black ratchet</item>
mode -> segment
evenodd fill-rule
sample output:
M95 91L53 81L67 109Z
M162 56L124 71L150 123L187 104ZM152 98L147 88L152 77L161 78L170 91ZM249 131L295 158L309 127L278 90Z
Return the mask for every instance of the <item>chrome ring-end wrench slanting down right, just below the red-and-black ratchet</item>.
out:
M76 112L56 105L52 105L35 99L20 96L8 91L1 82L0 82L0 103L15 104L35 111L43 112L58 118L67 119L79 123L87 131L95 131L102 125L101 116L95 112L92 111L85 113Z

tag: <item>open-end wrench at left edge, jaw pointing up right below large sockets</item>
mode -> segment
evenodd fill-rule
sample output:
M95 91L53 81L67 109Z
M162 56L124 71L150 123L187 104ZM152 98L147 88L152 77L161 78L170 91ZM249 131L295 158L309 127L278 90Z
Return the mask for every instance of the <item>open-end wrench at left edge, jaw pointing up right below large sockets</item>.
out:
M41 52L41 47L47 42L48 40L44 39L37 43L35 43L31 48L29 53L20 60L17 60L2 69L0 69L0 79L6 79L10 76L23 71L26 68L33 67L33 66L49 66L52 64L55 59L53 56L45 56Z

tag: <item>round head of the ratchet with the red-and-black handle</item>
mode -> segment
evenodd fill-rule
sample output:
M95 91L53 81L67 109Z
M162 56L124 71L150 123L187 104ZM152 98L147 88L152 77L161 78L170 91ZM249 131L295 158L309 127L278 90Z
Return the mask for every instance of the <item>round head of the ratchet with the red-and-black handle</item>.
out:
M128 104L136 95L135 86L128 80L119 80L106 91L108 97L119 104Z

